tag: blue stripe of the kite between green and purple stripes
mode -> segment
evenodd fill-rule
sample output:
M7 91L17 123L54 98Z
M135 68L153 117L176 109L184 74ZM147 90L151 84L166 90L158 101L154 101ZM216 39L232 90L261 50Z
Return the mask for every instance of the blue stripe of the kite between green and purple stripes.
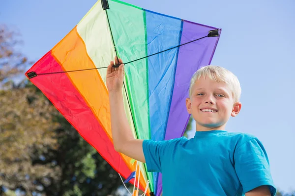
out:
M146 10L148 55L179 45L181 20ZM164 140L173 91L178 48L148 57L150 136ZM153 173L157 188L157 173ZM156 192L156 190L155 190Z

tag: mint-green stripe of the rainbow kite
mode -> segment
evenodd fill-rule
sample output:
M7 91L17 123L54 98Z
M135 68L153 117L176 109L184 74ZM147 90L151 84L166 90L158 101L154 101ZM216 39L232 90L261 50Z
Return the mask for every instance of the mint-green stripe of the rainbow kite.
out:
M145 11L118 0L109 1L107 10L116 49L123 62L147 56ZM138 139L150 139L148 109L148 59L125 66L125 79L131 113ZM146 167L145 167L146 168ZM146 173L150 190L154 190L151 172Z

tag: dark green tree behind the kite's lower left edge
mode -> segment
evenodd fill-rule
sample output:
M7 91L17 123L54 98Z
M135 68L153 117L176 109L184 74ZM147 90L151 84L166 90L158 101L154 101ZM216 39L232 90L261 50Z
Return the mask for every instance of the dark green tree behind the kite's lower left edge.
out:
M91 147L79 133L61 116L56 129L59 148L43 153L39 164L55 162L61 168L58 181L44 187L46 195L54 196L107 196L114 194L121 180L118 173ZM38 155L36 156L38 157Z

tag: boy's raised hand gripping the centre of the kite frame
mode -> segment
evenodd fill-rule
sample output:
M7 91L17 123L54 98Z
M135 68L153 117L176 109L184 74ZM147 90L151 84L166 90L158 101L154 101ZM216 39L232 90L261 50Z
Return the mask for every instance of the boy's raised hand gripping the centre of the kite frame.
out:
M107 88L109 92L121 91L124 81L124 64L121 59L119 59L120 66L114 68L114 61L111 61L107 70ZM115 64L118 65L118 58L115 57Z

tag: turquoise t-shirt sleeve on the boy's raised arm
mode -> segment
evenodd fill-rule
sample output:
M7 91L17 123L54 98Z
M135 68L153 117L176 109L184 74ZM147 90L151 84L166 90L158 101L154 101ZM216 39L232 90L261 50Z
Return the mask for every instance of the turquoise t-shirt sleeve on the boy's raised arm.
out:
M163 157L165 148L167 148L168 141L153 141L144 140L143 150L147 164L148 172L161 172L162 163L161 158Z

